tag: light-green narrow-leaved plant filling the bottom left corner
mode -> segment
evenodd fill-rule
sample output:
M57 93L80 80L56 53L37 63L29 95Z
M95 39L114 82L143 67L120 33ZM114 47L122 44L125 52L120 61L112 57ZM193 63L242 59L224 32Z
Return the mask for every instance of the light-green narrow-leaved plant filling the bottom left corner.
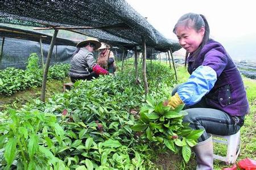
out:
M1 113L1 112L0 112ZM0 148L4 148L5 169L16 161L17 169L65 168L52 154L51 148L60 145L64 131L56 123L56 116L40 111L10 109L1 114ZM53 142L56 141L56 142Z

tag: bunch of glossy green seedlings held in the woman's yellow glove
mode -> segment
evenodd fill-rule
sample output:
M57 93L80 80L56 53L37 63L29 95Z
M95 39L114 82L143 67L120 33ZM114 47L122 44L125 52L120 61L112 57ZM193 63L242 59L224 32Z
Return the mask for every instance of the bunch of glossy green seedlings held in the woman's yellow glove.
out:
M142 138L156 145L166 146L175 153L180 153L187 163L191 157L191 147L195 146L203 130L192 130L182 122L187 112L183 105L172 110L163 105L164 99L154 100L147 96L147 104L141 108L139 122L131 129L142 131Z

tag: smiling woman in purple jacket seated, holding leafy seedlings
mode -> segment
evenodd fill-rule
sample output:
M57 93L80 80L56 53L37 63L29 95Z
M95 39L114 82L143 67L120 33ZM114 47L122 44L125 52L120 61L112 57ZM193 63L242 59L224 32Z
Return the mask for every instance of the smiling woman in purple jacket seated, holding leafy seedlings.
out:
M209 25L204 15L185 14L174 27L179 44L187 50L188 81L176 87L167 101L172 108L184 104L193 129L203 129L193 147L197 169L213 169L213 143L208 135L231 135L243 125L249 112L241 75L224 47L209 39Z

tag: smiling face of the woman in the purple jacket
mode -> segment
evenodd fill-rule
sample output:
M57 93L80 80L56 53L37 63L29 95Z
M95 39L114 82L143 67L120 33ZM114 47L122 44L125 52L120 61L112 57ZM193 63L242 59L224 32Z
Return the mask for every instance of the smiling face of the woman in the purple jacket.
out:
M195 52L199 45L203 41L205 28L201 27L199 31L196 31L191 26L178 25L176 27L176 36L179 39L179 44L187 50L188 53Z

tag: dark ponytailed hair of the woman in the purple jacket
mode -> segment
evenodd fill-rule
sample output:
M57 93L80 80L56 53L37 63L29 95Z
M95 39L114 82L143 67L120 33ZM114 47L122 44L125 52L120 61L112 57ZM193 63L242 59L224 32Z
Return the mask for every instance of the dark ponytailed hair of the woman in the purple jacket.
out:
M207 19L202 14L195 14L195 13L188 13L184 14L180 17L180 19L175 24L175 27L173 29L173 32L176 34L176 28L179 25L185 25L185 27L192 27L196 31L199 31L202 27L205 28L203 41L199 45L199 48L196 49L195 52L193 52L194 56L198 56L203 46L207 43L210 36L210 28L207 22Z

